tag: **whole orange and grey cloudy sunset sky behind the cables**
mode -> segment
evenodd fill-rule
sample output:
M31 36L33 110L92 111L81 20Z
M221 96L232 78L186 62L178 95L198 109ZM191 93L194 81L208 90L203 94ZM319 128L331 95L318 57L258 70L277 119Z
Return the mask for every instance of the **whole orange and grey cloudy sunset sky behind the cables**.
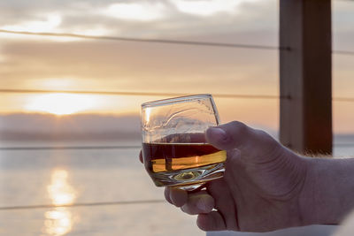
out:
M354 1L333 1L335 50L354 51ZM0 29L278 45L278 1L129 0L0 3ZM354 97L354 56L333 57L335 97ZM279 95L278 51L0 33L0 88ZM320 93L320 91L319 91ZM0 113L139 114L158 96L1 94ZM218 98L223 122L276 130L277 99ZM334 103L354 132L354 103Z

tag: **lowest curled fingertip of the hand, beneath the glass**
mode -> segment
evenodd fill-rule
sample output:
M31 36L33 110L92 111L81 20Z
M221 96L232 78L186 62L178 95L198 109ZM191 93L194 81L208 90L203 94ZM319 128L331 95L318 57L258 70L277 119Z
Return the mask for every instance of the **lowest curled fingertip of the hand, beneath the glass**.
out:
M224 218L219 211L212 211L208 214L200 214L196 219L196 225L203 231L224 231L227 230Z

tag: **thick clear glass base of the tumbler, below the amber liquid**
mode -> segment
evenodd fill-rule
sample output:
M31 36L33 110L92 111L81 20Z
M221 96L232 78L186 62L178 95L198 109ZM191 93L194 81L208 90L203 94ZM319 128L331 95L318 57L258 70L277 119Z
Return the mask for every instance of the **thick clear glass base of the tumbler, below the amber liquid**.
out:
M209 164L180 171L166 171L150 174L157 187L179 187L192 191L205 182L224 176L224 163Z

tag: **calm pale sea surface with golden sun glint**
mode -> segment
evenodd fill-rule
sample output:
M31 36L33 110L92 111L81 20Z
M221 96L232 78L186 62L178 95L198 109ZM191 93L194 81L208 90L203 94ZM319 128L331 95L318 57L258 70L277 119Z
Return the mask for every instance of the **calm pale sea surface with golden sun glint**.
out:
M335 143L334 156L354 156L352 136ZM138 147L4 149L117 145L140 142L2 141L0 235L205 235L196 217L163 201Z

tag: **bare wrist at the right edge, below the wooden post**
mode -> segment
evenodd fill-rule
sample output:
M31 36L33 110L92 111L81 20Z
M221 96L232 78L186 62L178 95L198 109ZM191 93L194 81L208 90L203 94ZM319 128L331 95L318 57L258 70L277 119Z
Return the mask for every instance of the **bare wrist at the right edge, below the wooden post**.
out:
M354 162L303 157L306 179L300 195L304 225L337 225L352 207Z

